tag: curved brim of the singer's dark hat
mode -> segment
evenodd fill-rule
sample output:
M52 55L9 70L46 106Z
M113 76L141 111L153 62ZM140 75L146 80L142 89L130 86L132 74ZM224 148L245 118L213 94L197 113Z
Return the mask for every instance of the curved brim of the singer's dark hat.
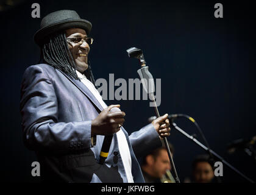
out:
M60 21L59 23L54 23L38 30L34 35L34 40L35 43L41 46L41 44L43 44L44 38L54 32L71 28L80 28L84 29L87 35L89 35L91 32L91 27L91 23L85 19L67 19L65 21Z

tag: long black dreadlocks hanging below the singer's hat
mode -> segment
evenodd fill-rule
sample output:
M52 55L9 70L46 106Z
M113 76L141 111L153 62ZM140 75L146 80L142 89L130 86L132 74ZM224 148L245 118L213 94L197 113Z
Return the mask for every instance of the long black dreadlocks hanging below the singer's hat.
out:
M62 30L48 35L48 37L43 40L43 44L41 44L40 48L41 55L39 63L41 61L43 61L43 63L48 63L52 67L57 68L68 76L80 81L76 74L76 63L68 49L65 31ZM87 79L95 86L95 80L89 60L88 68L83 74L85 74Z

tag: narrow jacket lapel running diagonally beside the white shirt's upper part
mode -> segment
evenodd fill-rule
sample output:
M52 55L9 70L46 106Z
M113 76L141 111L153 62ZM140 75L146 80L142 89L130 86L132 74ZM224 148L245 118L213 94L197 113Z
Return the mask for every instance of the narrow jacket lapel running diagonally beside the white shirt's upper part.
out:
M90 101L93 102L93 104L99 110L101 110L101 111L103 110L103 107L101 106L101 104L99 104L99 101L95 98L93 93L91 93L91 91L84 85L84 83L80 82L79 80L74 79L73 77L72 78L69 77L68 75L66 75L59 69L58 69L58 71L60 71L62 74L64 74L68 78L68 80L70 80L74 85L76 85L76 87L79 88L79 90L82 91L82 93L84 93L85 96L87 96L87 98L89 98Z

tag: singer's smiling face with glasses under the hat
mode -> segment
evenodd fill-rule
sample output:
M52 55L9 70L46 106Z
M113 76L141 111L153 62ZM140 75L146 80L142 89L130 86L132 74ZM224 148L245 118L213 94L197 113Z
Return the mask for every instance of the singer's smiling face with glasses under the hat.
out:
M76 42L79 40L79 38L86 38L87 34L84 29L76 28L67 29L65 32L69 51L71 52L74 62L76 63L76 69L80 73L84 73L84 71L88 68L88 53L90 51L90 47L86 41L83 41L82 43Z

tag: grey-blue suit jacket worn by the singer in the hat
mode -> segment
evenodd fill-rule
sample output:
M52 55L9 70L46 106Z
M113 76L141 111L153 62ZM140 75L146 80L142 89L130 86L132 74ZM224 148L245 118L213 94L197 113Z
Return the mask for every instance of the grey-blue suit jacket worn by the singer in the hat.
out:
M41 176L54 182L127 182L123 161L114 135L105 165L99 165L104 136L91 146L91 120L102 107L79 80L47 64L29 66L21 83L20 112L24 144L36 152ZM161 146L152 126L130 136L134 182L144 182L136 157ZM114 152L118 161L113 161Z

